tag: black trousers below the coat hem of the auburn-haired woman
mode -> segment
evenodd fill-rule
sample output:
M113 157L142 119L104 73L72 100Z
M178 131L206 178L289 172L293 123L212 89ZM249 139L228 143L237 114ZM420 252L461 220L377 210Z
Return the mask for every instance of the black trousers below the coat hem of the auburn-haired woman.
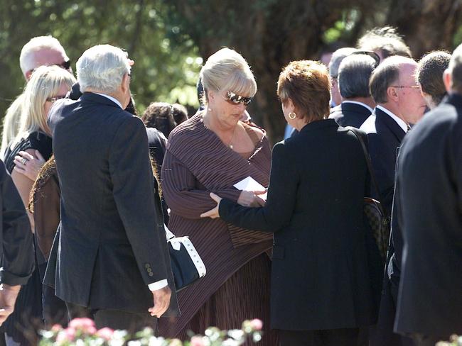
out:
M278 330L279 346L367 346L359 328Z

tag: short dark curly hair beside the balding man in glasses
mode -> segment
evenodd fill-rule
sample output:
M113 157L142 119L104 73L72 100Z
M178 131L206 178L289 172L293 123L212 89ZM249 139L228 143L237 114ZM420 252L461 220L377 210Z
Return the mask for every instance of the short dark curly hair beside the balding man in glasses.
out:
M422 91L431 96L435 104L439 104L446 95L443 74L448 68L451 54L443 50L430 52L421 58L416 70L416 79Z

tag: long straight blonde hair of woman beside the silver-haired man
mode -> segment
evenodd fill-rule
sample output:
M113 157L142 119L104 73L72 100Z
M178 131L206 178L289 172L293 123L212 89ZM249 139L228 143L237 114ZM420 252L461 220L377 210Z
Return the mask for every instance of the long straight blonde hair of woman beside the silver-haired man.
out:
M65 69L57 66L38 67L24 91L21 121L15 142L37 130L48 133L43 107L46 99L56 96L62 84L67 85L70 90L74 83L74 76Z

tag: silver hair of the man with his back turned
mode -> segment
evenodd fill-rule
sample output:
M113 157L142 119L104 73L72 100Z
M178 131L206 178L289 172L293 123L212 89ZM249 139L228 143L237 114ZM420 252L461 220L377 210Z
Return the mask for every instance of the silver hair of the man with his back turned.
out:
M95 89L107 93L117 90L124 74L130 73L127 52L113 45L95 45L77 60L80 91Z

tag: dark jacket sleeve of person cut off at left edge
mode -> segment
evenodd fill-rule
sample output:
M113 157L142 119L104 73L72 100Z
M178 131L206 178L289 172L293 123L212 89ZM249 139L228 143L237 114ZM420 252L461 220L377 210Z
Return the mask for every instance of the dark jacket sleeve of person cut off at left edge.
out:
M31 277L33 235L23 201L0 160L0 283L25 285Z

